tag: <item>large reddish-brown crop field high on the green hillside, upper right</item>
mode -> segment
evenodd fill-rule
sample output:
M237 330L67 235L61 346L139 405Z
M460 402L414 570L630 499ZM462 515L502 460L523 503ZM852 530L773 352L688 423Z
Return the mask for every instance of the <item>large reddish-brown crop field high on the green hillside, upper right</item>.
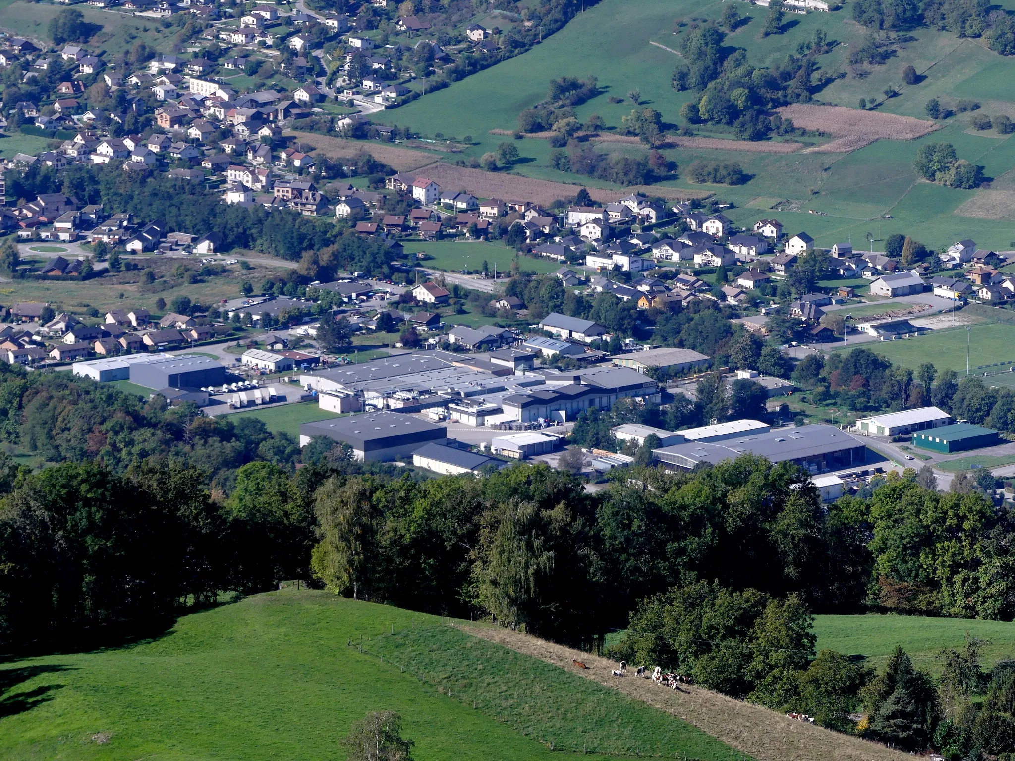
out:
M823 145L805 149L804 153L849 153L883 138L913 140L939 127L924 119L858 111L842 106L793 103L775 111L784 119L792 119L797 127L820 130L834 137L834 140Z

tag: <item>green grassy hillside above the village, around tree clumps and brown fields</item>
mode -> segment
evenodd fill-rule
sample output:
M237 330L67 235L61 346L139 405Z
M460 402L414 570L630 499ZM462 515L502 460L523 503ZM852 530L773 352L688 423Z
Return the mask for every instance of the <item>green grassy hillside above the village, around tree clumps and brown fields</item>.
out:
M718 1L702 5L692 0L646 0L632 5L603 0L525 55L385 116L392 123L410 125L424 134L471 136L477 145L467 153L478 156L505 139L489 134L489 130L515 129L518 114L545 97L551 78L594 74L603 93L578 109L580 119L599 114L609 126L618 127L621 117L633 108L627 92L637 88L644 105L657 109L664 121L678 123L680 107L691 93L675 92L670 87L678 58L651 43L679 50L680 38L686 31L675 33L674 21L715 19L722 7ZM727 43L745 48L756 65L770 65L785 58L801 41L810 39L816 28L824 29L830 40L837 42L819 62L824 71L844 76L816 95L822 102L856 108L860 97L881 101L882 90L892 85L900 94L882 102L880 111L926 119L924 106L931 97L941 98L946 105L954 105L960 97L975 97L982 102L980 113L1015 116L1015 98L1007 85L1015 73L1015 62L988 50L983 41L960 41L950 32L916 29L897 43L895 55L887 64L866 67L866 74L858 77L849 73L848 59L867 30L852 20L849 4L831 14L788 14L786 32L768 38L760 33L766 10L748 3L738 3L738 7L752 20L728 36ZM922 81L912 86L901 81L901 70L907 64L923 75ZM609 96L621 97L624 102L610 103ZM788 230L806 229L819 245L852 238L859 248L868 232L883 241L892 232L908 231L929 247L950 245L958 237L972 235L982 245L1015 248L1015 195L997 195L998 190L1015 189L1015 142L993 130L973 133L966 116L952 117L942 125L943 129L921 140L882 140L850 154L684 148L665 153L684 167L697 158L739 161L752 176L749 183L738 188L708 186L738 207L755 201L754 208L737 208L729 215L737 222L746 222L771 214ZM695 129L704 136L732 137L731 131L723 128ZM986 175L995 179L994 195L987 190L959 191L918 182L911 167L917 149L924 142L937 140L954 143L961 157L983 164ZM549 166L551 149L546 141L526 139L516 145L523 156L515 167L519 174L576 180L576 176ZM613 149L632 148L613 144ZM701 188L683 178L665 185ZM771 199L771 203L794 201L797 209L768 212L771 204L761 199ZM822 214L811 214L811 210ZM883 219L886 214L892 218ZM879 243L874 248L878 249Z

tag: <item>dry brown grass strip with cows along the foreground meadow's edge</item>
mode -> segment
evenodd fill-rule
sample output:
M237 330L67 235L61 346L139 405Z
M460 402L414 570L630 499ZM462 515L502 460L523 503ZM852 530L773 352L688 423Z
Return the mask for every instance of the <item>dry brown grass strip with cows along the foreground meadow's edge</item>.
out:
M700 687L684 686L681 692L610 672L616 665L588 652L506 629L464 626L463 630L498 642L514 650L566 669L587 679L619 690L694 724L759 761L903 761L908 754L868 743L849 735L805 724L757 705L735 700ZM589 669L578 669L578 659Z

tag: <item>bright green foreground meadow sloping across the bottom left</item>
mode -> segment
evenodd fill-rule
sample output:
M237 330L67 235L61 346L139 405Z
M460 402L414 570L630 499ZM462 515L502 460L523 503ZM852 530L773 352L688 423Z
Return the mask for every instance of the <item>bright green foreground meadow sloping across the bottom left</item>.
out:
M476 707L430 679L360 654L359 635L406 632L435 663L482 659ZM426 627L425 629L422 627ZM408 638L410 642L411 637ZM665 749L665 757L747 757L682 721L439 619L292 589L187 616L133 646L0 664L0 757L7 761L302 761L343 759L340 742L368 711L396 710L418 761L537 761L584 740ZM367 649L377 639L365 640ZM422 664L421 664L422 665ZM438 682L439 683L439 682ZM517 731L524 690L543 710ZM483 702L480 702L482 700ZM610 710L605 711L604 707ZM498 715L499 711L499 715ZM581 735L580 730L585 730ZM628 739L628 733L637 737ZM555 737L551 737L555 735ZM108 740L98 744L97 740ZM579 748L581 752L581 748ZM614 758L600 755L599 758ZM621 757L622 758L622 757Z

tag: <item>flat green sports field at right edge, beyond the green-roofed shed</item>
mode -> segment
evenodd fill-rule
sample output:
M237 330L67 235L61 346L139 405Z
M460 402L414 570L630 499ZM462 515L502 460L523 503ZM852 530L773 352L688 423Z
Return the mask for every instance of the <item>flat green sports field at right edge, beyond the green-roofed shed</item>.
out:
M924 362L931 361L938 370L950 368L964 374L966 338L964 328L946 328L930 331L919 338L876 341L861 346L890 359L893 364L917 369ZM968 343L970 367L1015 359L1015 326L1005 323L970 326Z

